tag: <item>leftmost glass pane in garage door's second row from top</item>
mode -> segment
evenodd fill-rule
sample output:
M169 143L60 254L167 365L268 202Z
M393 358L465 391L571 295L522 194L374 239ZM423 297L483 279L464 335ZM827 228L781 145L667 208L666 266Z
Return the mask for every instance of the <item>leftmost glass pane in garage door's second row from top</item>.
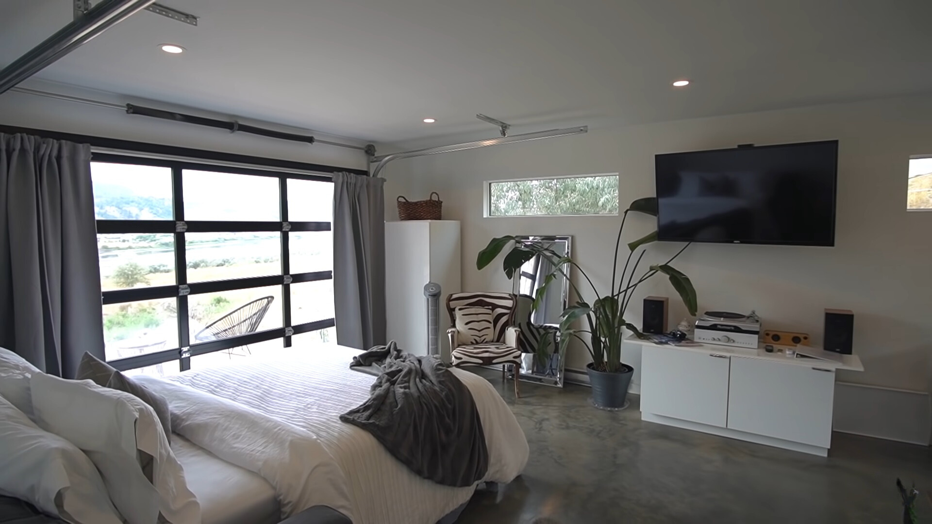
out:
M97 235L103 291L173 285L174 235Z

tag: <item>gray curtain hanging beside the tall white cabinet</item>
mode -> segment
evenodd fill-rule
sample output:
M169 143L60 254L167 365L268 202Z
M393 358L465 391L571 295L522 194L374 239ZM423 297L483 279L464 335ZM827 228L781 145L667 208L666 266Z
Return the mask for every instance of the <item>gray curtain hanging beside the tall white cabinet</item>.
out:
M336 342L385 344L384 178L334 173Z

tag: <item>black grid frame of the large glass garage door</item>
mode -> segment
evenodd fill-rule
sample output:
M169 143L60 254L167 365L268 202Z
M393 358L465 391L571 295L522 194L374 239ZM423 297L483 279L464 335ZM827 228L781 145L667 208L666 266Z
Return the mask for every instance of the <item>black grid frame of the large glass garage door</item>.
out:
M131 357L108 360L121 371L136 369L149 365L165 364L177 360L180 371L191 368L191 357L206 353L220 352L276 338L282 339L282 346L292 345L292 337L311 331L319 331L336 326L336 319L324 319L304 324L292 325L291 284L333 280L333 270L313 271L292 274L290 270L289 236L291 232L330 231L332 222L292 222L288 219L288 180L310 180L333 183L333 178L325 174L298 172L280 172L274 169L254 169L230 167L197 160L154 159L126 156L110 153L93 153L91 162L117 164L134 164L166 167L171 169L172 220L97 220L98 234L145 234L171 233L174 235L175 284L117 289L103 291L103 305L138 302L141 300L174 298L177 308L178 347L158 352L134 355ZM247 174L277 178L279 181L280 221L185 221L184 171L210 171L229 174ZM349 171L349 170L348 170ZM281 237L281 274L257 277L245 277L223 281L187 282L187 260L185 255L185 234L189 232L204 233L239 233L268 231L279 232ZM220 338L207 342L191 343L188 316L188 296L281 285L282 326L257 331L239 337ZM103 318L102 318L103 323Z

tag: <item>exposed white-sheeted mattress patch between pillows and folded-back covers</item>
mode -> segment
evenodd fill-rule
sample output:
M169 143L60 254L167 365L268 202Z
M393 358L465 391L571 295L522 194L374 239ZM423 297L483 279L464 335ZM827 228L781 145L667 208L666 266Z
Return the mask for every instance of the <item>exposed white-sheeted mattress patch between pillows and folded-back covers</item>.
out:
M222 461L171 435L171 451L185 468L185 481L200 503L201 524L276 524L281 521L275 489L261 476Z

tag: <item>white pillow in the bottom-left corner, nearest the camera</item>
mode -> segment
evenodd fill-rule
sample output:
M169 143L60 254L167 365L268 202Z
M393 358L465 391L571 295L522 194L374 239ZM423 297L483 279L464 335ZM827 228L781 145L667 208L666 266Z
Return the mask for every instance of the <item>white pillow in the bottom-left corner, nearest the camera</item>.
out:
M0 493L72 524L121 524L93 462L0 397Z

